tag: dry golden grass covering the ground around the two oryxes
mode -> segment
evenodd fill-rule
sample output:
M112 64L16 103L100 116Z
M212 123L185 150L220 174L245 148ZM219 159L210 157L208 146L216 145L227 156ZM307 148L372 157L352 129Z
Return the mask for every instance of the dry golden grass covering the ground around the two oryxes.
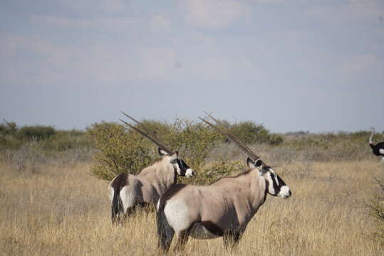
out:
M113 227L108 183L89 169L31 174L0 165L0 255L158 255L155 213ZM190 239L182 255L383 255L365 206L382 164L296 162L276 171L293 196L268 196L237 250L225 251L221 239Z

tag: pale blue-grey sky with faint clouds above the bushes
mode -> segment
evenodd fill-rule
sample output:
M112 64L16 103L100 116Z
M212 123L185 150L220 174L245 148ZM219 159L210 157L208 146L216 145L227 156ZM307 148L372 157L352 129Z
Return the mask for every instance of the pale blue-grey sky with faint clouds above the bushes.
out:
M20 125L382 131L383 96L382 0L0 2L0 119Z

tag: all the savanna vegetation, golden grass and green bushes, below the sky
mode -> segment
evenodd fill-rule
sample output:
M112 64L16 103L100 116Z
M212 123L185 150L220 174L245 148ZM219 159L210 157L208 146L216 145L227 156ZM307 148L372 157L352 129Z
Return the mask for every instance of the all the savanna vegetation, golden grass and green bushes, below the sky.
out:
M245 168L245 155L200 122L146 120L205 184ZM269 196L237 250L190 239L185 255L382 255L384 165L370 132L274 134L262 124L229 124L292 189ZM375 134L376 142L384 134ZM112 227L108 180L137 174L157 148L122 124L86 131L0 123L0 247L4 255L157 255L155 213Z

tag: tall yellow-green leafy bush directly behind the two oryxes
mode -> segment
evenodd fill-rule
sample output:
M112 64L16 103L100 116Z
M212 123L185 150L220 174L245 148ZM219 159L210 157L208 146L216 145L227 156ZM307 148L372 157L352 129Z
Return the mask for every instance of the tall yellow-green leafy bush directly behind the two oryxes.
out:
M172 124L142 123L151 127L155 131L151 133L157 134L165 146L179 151L182 159L197 172L204 168L209 151L223 139L209 127L185 119L177 119ZM121 124L93 124L88 128L88 134L95 148L100 149L94 157L96 164L91 168L100 178L110 180L121 173L137 174L158 158L157 146Z

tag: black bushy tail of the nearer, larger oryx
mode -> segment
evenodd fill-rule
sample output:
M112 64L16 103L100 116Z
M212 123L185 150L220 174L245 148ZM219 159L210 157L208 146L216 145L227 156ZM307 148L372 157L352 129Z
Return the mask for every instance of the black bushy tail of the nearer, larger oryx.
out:
M164 206L159 208L156 217L158 235L157 247L167 252L170 250L170 245L172 238L175 235L175 230L173 230L173 228L170 226L170 223L168 223L167 218L165 217Z

